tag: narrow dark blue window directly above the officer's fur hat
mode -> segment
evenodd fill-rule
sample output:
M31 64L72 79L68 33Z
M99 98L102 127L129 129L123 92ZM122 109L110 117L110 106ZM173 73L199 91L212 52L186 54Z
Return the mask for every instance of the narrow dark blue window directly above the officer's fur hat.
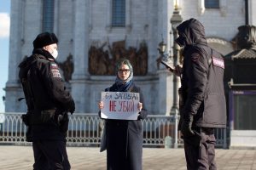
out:
M43 31L53 32L55 1L43 1Z

